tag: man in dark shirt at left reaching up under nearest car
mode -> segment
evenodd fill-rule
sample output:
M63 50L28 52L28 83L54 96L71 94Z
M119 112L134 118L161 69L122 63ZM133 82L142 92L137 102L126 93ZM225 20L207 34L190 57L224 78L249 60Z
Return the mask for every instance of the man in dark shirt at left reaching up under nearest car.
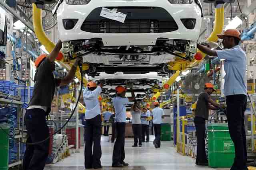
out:
M25 125L27 129L27 143L38 143L49 137L49 128L46 116L50 113L52 100L57 86L64 86L72 82L78 64L81 59L76 59L71 70L65 78L54 78L55 59L62 48L62 42L58 41L50 55L40 55L35 60L36 74L34 76L34 91L25 113ZM48 158L49 139L37 145L27 145L23 160L24 170L43 170Z

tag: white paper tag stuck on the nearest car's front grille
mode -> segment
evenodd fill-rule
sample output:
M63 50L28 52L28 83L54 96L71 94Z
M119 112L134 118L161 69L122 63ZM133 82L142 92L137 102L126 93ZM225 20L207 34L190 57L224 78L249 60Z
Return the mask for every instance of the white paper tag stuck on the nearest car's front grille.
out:
M115 20L124 23L124 20L126 18L126 14L123 14L122 12L117 12L117 9L110 10L108 8L102 8L100 12L100 16L104 18L108 18L110 20Z

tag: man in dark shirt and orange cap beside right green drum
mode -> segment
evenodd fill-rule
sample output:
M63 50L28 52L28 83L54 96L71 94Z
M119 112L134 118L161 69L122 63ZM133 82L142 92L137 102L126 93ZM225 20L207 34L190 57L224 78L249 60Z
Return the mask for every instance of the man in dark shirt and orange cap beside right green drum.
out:
M204 91L199 94L196 102L194 117L197 137L196 165L208 166L204 142L205 121L209 118L209 109L217 110L221 108L218 103L210 98L210 95L214 91L214 86L211 83L206 83L204 85Z

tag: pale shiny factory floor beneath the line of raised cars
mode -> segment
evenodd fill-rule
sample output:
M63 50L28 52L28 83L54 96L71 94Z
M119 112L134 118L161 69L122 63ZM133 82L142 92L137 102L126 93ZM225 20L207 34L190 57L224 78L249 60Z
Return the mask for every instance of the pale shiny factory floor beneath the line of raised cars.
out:
M103 170L214 170L206 166L196 166L195 159L177 153L172 142L162 142L159 149L155 149L152 142L143 143L142 147L134 148L132 145L132 138L126 138L124 161L130 166L112 168L114 143L102 142ZM80 153L71 154L56 164L46 165L44 170L84 170L84 149L81 148Z

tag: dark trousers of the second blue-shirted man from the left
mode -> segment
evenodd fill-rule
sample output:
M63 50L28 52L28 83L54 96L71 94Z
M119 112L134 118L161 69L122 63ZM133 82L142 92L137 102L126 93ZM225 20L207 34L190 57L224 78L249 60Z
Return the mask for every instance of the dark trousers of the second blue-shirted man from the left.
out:
M124 137L125 137L125 125L126 123L116 122L117 137L113 150L113 162L112 165L116 165L124 161Z

